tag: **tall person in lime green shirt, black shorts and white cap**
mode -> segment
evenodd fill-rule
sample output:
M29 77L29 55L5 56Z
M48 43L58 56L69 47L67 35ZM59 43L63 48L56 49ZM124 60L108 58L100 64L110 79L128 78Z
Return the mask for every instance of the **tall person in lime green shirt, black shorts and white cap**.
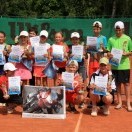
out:
M122 98L121 98L121 84L125 88L127 110L132 111L130 105L130 60L129 56L132 54L132 41L129 36L124 34L124 23L122 21L117 21L115 23L115 35L108 40L107 50L111 51L112 48L123 50L123 55L121 62L118 66L112 66L112 72L115 75L116 85L117 85L117 99L118 105L116 109L122 108ZM109 52L108 56L110 58L113 55Z

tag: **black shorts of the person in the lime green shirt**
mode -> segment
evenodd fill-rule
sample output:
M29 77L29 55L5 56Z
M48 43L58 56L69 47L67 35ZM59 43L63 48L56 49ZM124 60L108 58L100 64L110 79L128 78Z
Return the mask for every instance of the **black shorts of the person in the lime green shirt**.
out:
M129 83L130 70L112 70L116 84Z

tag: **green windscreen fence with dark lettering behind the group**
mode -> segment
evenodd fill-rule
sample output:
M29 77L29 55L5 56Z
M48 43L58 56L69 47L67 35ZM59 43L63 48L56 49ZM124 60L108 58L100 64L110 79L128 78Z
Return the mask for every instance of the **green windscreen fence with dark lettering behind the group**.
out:
M101 18L101 19L82 19L82 18L49 18L49 19L29 19L29 18L0 18L0 30L6 33L8 44L14 43L14 37L19 35L20 31L27 30L34 26L41 30L49 32L48 41L52 44L55 32L62 31L65 41L69 43L70 34L77 31L81 35L81 40L86 42L86 36L92 36L92 24L94 21L100 21L103 24L102 35L107 39L114 34L114 23L123 21L125 23L125 33L132 37L132 18Z

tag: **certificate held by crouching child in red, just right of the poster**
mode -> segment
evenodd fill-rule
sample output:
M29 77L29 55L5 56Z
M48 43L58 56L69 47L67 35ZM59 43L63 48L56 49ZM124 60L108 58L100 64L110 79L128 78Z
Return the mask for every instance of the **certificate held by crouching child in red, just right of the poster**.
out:
M62 72L63 85L66 87L66 90L74 90L74 73Z

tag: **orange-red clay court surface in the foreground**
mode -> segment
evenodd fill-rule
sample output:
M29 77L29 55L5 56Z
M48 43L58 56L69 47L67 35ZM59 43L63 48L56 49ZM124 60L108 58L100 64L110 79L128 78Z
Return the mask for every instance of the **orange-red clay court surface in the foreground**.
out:
M125 104L125 103L124 103ZM97 117L90 116L90 109L82 113L67 112L66 119L22 118L22 108L17 106L14 114L6 115L5 107L0 107L1 132L132 132L132 112L125 106L115 110L111 106L109 116L99 110Z

